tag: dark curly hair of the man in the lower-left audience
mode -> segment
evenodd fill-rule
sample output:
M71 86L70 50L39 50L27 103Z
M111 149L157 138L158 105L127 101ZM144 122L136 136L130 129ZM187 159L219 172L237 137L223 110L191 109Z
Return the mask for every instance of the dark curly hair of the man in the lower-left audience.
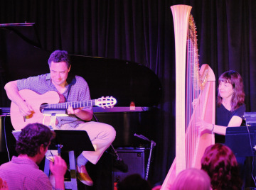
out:
M21 129L15 150L18 155L34 157L38 153L39 147L43 145L46 148L53 138L55 138L55 133L46 125L41 123L28 124Z

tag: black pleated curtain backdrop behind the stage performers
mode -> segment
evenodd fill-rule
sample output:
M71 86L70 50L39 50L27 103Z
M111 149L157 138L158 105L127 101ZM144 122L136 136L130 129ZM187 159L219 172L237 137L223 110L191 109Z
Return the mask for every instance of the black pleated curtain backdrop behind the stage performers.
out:
M131 60L158 75L163 94L154 181L164 180L175 157L176 78L170 9L175 4L193 7L200 63L210 65L216 79L229 69L240 72L247 111L256 111L255 0L0 1L0 23L36 23L43 50L63 49L75 55ZM4 62L0 66L2 72L11 72L4 70ZM1 104L6 106L3 91L1 85Z

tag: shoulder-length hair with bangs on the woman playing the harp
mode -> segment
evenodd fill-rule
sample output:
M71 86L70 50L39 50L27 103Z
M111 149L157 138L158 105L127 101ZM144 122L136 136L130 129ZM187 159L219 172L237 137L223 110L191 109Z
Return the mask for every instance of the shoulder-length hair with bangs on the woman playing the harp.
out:
M238 72L230 70L220 75L218 83L220 84L220 82L228 82L232 84L234 93L231 99L231 111L235 111L245 103L245 91L243 88L242 77ZM221 104L222 98L220 97L220 92L218 90L217 106L220 106Z

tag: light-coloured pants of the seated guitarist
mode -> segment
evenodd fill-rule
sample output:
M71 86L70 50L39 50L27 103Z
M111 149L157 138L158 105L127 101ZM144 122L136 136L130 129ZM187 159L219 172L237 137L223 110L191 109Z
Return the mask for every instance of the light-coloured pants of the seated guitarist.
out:
M83 151L82 155L92 164L97 164L105 150L107 150L107 148L110 147L111 143L114 141L116 135L116 131L111 125L95 121L81 123L75 128L65 124L62 125L59 129L86 130L90 140L92 141L92 145L95 147L95 151ZM46 157L49 157L50 155L58 155L57 150L50 150L50 152L46 152Z

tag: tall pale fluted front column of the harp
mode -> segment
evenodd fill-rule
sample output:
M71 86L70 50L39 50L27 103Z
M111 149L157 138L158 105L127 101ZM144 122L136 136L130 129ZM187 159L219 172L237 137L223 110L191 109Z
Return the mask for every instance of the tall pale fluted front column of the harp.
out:
M176 57L176 175L186 169L185 149L185 93L186 93L186 40L188 18L192 7L171 6L174 18L175 57Z

